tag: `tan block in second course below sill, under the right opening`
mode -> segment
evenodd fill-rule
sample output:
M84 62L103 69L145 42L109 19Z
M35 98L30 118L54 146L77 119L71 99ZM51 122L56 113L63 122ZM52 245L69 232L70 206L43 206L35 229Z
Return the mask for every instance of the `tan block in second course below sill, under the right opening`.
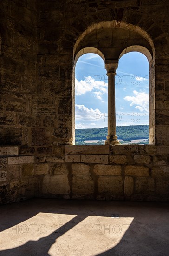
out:
M144 166L128 165L125 167L125 175L149 176L149 168Z

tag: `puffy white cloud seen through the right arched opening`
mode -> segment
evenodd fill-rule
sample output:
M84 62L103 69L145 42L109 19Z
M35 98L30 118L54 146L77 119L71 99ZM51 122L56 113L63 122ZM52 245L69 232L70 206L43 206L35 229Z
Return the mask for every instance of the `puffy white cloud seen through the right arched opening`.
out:
M130 106L136 105L136 109L140 110L141 112L149 111L149 94L145 92L137 92L133 91L135 96L126 96L124 100L130 101Z

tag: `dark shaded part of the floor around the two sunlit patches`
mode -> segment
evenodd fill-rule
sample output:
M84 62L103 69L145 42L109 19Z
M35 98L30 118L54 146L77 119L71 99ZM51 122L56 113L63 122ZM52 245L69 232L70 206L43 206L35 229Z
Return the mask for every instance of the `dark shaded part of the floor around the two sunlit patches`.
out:
M168 211L167 203L161 202L105 202L105 201L75 201L55 199L33 199L0 206L0 231L13 227L31 217L42 213L75 215L70 221L56 229L50 235L37 241L27 243L7 250L1 250L0 256L47 256L52 244L58 237L78 225L88 216L109 217L112 214L119 218L133 218L132 225L123 235L117 245L100 254L103 256L168 256L169 244L167 234ZM115 215L115 217L117 217ZM169 226L168 226L169 227ZM99 229L99 226L97 226ZM96 230L95 230L96 231ZM105 232L110 232L106 230ZM65 247L67 244L65 243ZM98 246L98 244L96 244ZM56 254L58 255L58 254ZM60 252L59 255L64 255ZM76 253L74 255L82 255ZM65 256L72 256L66 254ZM82 255L85 256L85 255Z

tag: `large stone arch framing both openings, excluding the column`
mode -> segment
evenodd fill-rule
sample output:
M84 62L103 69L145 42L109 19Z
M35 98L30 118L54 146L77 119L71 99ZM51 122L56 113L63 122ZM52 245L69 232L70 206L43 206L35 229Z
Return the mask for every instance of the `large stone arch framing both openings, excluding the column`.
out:
M112 33L112 35L111 35ZM115 34L115 36L113 36ZM120 40L119 40L120 38ZM89 26L78 38L73 48L73 63L84 53L97 53L105 63L118 63L120 57L129 51L143 53L150 64L150 144L155 143L155 47L150 35L142 28L118 22L104 21ZM85 52L86 51L86 52ZM75 65L73 65L75 67ZM75 72L73 68L73 101L75 99ZM75 103L73 103L73 133L75 134Z

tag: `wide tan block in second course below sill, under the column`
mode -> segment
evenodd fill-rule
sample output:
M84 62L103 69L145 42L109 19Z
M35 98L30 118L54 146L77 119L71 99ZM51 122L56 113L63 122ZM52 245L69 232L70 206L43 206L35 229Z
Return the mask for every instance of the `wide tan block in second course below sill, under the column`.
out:
M97 175L121 175L122 168L120 165L96 164L94 173Z

